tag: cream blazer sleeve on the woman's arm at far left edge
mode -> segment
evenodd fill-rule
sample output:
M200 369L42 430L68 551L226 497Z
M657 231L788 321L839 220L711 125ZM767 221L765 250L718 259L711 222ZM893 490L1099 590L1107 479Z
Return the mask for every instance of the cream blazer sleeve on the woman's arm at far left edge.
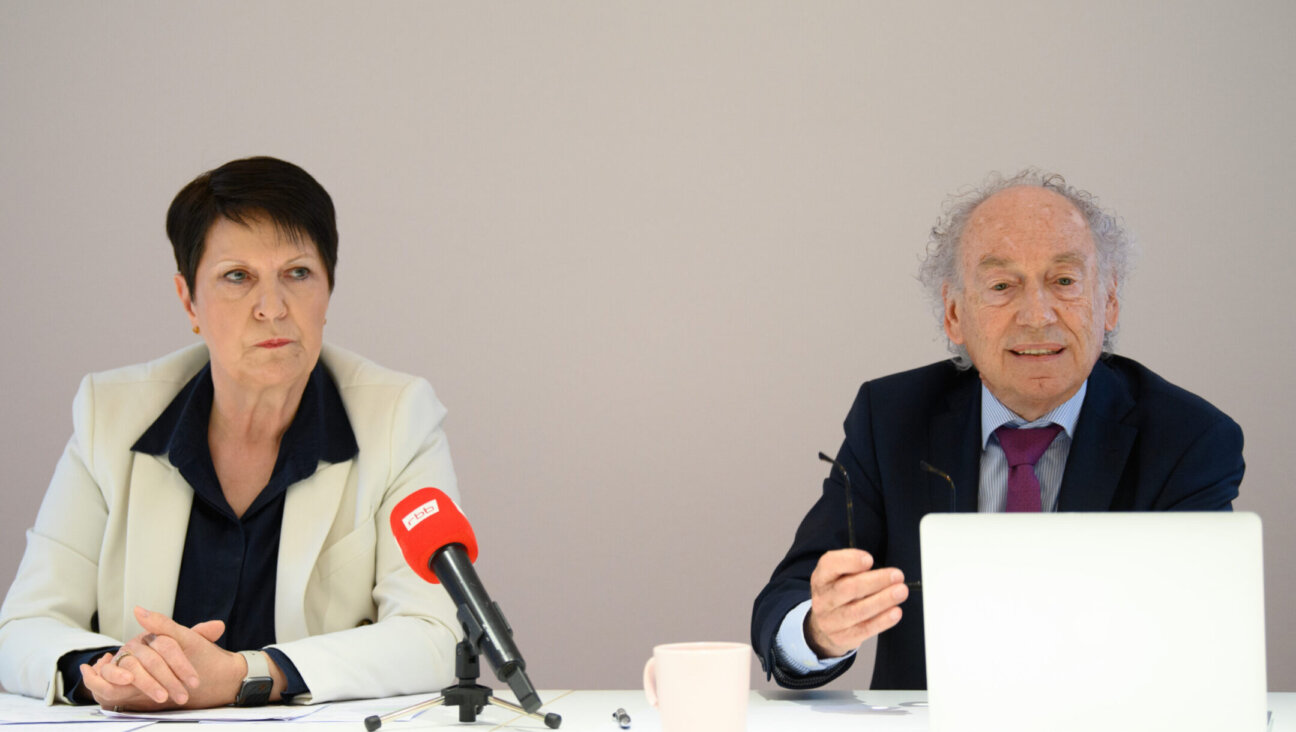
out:
M70 691L58 672L65 653L121 644L91 630L108 523L108 500L93 470L93 413L95 382L86 377L73 403L73 437L0 608L0 685L47 703L65 701Z

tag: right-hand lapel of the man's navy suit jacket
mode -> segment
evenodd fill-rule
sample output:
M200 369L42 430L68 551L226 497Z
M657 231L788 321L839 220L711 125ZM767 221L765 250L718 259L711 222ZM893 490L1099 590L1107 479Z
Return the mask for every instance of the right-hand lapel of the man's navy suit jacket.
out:
M1131 409L1134 398L1125 382L1099 359L1089 374L1089 390L1058 494L1058 510L1111 509L1125 461L1138 438L1138 428L1121 421Z

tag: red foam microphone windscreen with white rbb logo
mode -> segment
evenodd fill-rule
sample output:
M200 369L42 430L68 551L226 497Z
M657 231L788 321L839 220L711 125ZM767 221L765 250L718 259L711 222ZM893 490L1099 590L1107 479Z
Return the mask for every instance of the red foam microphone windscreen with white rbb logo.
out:
M477 536L455 501L437 488L419 488L391 509L391 534L419 577L439 583L429 564L437 549L463 544L468 561L477 561Z

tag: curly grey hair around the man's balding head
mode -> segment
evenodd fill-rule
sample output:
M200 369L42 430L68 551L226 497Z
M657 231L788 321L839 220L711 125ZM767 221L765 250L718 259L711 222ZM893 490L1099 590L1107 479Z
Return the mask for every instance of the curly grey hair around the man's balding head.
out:
M1038 185L1063 196L1080 210L1089 223L1089 231L1094 234L1094 246L1098 250L1098 275L1109 286L1112 279L1116 280L1116 297L1120 298L1134 260L1134 237L1125 229L1121 219L1109 211L1104 211L1098 205L1098 198L1091 193L1068 185L1061 175L1046 172L1038 168L1026 168L1004 177L1002 174L990 174L985 183L973 189L956 193L946 200L945 212L932 227L932 234L927 241L927 255L918 269L918 279L927 289L927 295L936 310L936 320L943 328L945 301L941 290L949 285L951 290L963 289L963 273L960 272L959 240L967 227L972 211L986 198L1007 188L1017 185ZM1104 295L1105 295L1104 290ZM966 347L954 342L949 343L951 360L960 369L971 368L972 359L968 358ZM1109 354L1116 347L1116 330L1103 334L1103 352Z

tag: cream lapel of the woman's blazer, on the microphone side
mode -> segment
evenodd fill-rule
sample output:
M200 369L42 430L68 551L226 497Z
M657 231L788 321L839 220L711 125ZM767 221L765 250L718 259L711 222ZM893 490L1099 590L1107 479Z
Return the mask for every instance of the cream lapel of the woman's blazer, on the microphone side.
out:
M275 637L279 641L310 635L305 613L306 586L315 571L324 539L333 527L353 465L353 460L320 463L314 475L288 487L275 570Z

